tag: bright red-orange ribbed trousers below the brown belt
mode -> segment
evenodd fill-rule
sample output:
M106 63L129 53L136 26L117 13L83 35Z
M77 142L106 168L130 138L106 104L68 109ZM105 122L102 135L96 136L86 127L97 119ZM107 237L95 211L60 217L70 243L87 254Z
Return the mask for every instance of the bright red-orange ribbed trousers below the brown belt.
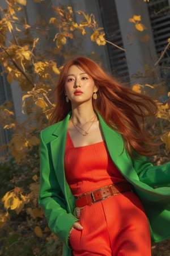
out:
M151 256L148 220L133 192L86 205L79 222L83 230L70 235L74 256Z

